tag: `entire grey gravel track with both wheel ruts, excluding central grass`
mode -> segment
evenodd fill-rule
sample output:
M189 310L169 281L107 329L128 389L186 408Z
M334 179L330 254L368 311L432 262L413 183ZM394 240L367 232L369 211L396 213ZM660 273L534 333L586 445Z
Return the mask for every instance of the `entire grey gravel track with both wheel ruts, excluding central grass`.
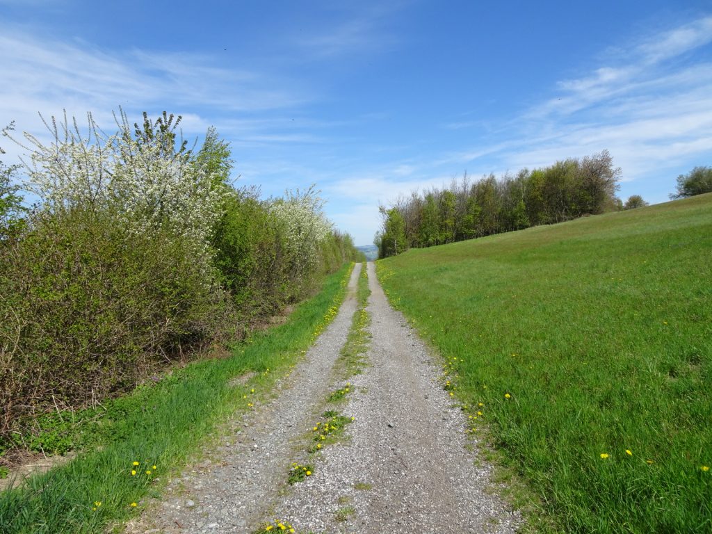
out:
M350 378L352 392L339 407L355 418L347 438L318 452L313 476L286 486L325 395L343 385L331 370L356 310L357 269L292 386L258 410L219 466L181 481L184 493L163 502L151 528L142 521L132 532L248 534L272 518L288 520L298 534L515 532L520 518L491 491L491 466L476 462L466 416L439 384L422 341L389 305L374 263L367 266L370 365Z

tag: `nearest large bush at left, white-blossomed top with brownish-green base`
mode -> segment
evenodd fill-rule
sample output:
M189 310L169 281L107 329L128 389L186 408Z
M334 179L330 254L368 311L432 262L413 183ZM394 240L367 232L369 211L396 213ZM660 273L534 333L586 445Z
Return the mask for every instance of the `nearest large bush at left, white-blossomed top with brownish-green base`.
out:
M134 386L224 332L233 308L209 239L226 187L174 146L172 117L105 135L27 135L41 199L0 248L0 441L44 407ZM0 449L1 449L0 443Z

